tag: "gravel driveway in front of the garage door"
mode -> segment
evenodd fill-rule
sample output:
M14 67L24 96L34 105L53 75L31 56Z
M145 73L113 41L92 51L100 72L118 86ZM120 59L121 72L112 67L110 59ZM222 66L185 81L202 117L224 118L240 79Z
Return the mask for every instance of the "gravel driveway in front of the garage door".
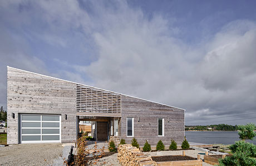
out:
M0 165L50 165L61 157L62 149L60 143L0 147Z

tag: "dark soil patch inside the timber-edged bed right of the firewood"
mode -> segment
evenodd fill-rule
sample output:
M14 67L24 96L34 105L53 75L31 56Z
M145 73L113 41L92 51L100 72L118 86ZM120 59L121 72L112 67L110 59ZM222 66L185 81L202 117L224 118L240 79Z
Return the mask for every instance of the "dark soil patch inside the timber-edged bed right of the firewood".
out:
M163 155L163 156L153 156L151 157L155 162L171 162L180 160L196 160L196 158L183 156L183 155Z

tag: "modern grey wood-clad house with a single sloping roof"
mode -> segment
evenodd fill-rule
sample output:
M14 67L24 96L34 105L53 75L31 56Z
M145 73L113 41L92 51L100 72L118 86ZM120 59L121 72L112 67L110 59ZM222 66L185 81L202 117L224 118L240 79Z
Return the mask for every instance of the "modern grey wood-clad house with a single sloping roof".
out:
M184 109L7 66L7 143L75 142L80 121L92 136L181 143Z

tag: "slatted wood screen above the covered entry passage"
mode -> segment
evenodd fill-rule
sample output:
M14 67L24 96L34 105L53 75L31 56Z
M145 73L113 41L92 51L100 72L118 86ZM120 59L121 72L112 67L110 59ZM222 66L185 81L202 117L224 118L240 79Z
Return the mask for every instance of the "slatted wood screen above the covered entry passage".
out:
M77 84L76 111L121 115L121 95Z

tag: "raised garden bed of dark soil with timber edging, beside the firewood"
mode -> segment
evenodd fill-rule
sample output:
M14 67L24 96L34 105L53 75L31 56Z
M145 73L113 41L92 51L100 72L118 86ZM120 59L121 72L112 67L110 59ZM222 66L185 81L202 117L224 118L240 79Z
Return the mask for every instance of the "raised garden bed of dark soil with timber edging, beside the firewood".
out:
M154 156L151 157L152 160L157 162L160 166L170 166L170 165L195 165L201 166L203 162L201 159L196 159L187 155L164 155L164 156Z

